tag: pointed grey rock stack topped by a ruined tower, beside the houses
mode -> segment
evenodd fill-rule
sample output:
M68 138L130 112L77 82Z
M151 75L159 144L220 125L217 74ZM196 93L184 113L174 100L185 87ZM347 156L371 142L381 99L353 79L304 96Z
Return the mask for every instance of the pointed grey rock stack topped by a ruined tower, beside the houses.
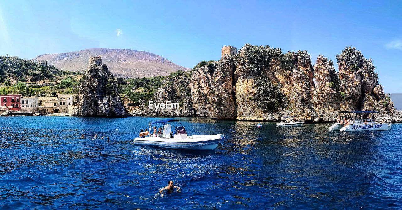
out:
M73 116L125 117L113 74L100 56L90 57L82 75L80 90L74 96Z

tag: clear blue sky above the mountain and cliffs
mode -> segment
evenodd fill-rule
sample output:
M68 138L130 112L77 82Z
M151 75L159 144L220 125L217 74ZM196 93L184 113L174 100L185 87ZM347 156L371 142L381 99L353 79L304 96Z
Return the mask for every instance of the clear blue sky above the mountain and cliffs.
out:
M155 53L184 67L224 45L306 50L336 63L348 46L402 93L402 1L1 1L0 55L33 59L103 47Z

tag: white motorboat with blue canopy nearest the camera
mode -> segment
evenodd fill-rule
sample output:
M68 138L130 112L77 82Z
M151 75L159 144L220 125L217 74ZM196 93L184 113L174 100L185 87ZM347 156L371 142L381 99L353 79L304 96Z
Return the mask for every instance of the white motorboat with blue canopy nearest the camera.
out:
M150 122L150 130L151 125L162 123L162 133L150 137L137 137L134 139L134 144L173 149L206 150L215 149L225 138L224 134L187 136L187 131L180 122L180 126L174 127L174 132L172 131L172 123L168 124L168 122L179 122L179 120L167 119Z

